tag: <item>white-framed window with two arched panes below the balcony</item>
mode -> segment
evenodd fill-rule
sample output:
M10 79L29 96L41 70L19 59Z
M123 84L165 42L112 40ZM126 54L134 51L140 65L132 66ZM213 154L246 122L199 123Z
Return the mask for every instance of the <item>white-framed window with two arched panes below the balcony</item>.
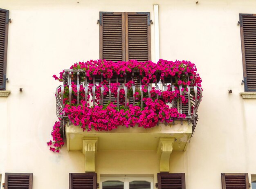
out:
M154 189L153 178L102 177L101 189Z

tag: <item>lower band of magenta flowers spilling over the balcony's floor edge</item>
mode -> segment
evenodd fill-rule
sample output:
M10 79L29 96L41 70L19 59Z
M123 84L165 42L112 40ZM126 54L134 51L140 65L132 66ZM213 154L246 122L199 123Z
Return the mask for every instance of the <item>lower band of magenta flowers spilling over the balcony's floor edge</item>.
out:
M161 100L143 99L146 106L143 110L139 106L129 105L117 110L117 106L110 103L107 107L102 105L87 107L84 101L80 105L65 105L64 111L74 125L83 130L92 129L112 130L118 126L150 128L158 122L172 122L174 118L185 118L176 108L170 108Z

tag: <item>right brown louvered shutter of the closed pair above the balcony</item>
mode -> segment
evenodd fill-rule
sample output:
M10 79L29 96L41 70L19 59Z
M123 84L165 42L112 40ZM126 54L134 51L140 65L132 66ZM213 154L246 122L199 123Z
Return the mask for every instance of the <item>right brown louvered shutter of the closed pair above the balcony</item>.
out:
M126 13L126 61L151 60L150 13Z

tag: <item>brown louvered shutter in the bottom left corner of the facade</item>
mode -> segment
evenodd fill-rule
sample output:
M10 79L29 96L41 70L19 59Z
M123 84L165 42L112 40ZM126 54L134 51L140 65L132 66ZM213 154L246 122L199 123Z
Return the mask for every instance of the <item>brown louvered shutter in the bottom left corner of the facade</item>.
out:
M4 189L32 189L32 173L5 173Z

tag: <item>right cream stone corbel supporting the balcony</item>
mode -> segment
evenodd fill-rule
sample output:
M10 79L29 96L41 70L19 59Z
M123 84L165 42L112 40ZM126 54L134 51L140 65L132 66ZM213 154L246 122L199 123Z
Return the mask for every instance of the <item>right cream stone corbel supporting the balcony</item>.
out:
M157 153L160 154L160 172L170 171L170 155L173 152L175 138L159 138Z

